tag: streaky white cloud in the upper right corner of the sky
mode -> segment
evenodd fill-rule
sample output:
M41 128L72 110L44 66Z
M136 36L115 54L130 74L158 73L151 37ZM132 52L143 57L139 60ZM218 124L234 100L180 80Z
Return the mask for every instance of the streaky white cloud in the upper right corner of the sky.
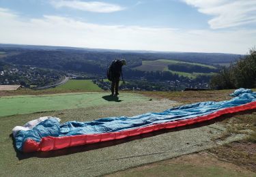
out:
M214 16L208 21L212 29L256 23L255 0L182 0L203 14Z

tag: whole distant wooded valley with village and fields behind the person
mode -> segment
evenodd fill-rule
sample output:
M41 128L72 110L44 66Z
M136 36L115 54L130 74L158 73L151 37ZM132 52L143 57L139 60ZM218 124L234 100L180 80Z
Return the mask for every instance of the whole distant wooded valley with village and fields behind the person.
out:
M25 82L26 86L44 86L49 84L44 74L46 70L57 75L47 76L51 78L51 83L54 80L57 82L61 75L104 79L106 68L111 61L126 59L128 65L123 69L124 78L130 80L130 84L134 83L132 88L137 86L137 80L141 79L143 90L208 88L207 82L212 74L218 72L221 65L229 65L240 57L239 54L221 53L147 52L0 44L0 84ZM38 72L42 77L37 76L37 79L43 79L44 82L35 82L36 79L31 74L25 74L27 71L23 71L23 77L11 76L15 75L13 71L16 71L17 67L27 67L28 72L33 68L32 76ZM34 72L35 69L37 72ZM161 86L152 86L155 82Z

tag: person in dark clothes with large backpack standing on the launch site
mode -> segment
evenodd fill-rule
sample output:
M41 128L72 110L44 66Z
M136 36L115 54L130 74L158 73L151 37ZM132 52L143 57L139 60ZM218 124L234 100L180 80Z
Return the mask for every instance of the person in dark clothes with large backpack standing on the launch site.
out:
M111 81L111 95L119 95L118 87L119 87L119 80L120 76L122 76L122 80L124 82L123 74L122 74L122 67L126 65L126 60L115 60L111 63L108 69L108 78Z

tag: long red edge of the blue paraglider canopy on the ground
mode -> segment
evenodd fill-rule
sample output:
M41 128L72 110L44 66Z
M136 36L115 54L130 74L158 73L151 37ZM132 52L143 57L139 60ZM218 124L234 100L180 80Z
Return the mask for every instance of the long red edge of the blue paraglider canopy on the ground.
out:
M232 114L235 112L241 112L244 110L253 110L253 109L256 109L256 101L251 103L246 103L242 106L235 106L231 108L225 108L223 110L218 110L212 114L207 114L204 116L198 116L198 117L189 118L186 120L177 120L169 123L159 123L155 125L149 125L147 127L139 127L137 129L129 129L125 131L98 133L98 134L91 134L91 135L71 135L71 136L62 136L62 137L47 136L42 138L41 142L35 142L34 140L28 139L23 144L23 152L57 150L57 149L68 148L72 146L81 146L85 144L94 144L97 142L119 140L122 138L134 136L134 135L141 135L143 133L158 131L160 129L173 129L175 127L182 127L185 125L201 123L206 120L217 118L218 116L222 116L224 114Z

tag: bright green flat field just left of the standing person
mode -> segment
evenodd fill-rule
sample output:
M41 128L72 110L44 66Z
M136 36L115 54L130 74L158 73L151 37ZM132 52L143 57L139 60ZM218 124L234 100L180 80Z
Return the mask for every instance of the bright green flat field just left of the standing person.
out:
M91 80L68 80L65 84L49 88L49 90L57 91L102 91L98 85L94 84Z

